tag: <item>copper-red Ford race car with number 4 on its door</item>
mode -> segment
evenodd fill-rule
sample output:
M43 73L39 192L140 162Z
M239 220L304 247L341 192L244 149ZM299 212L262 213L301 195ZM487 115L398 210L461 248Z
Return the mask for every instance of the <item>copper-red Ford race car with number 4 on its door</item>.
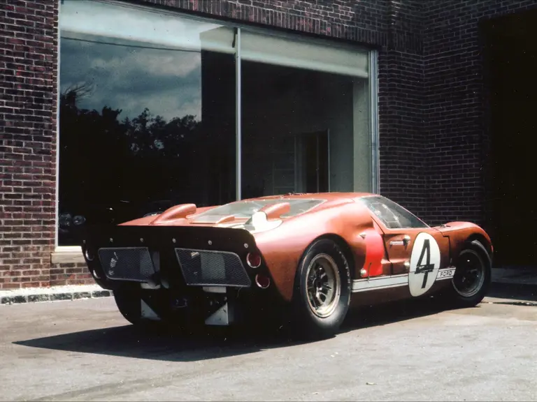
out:
M352 306L431 295L475 306L493 253L473 223L432 228L368 193L180 204L90 226L82 248L133 324L233 325L275 311L313 337L336 333Z

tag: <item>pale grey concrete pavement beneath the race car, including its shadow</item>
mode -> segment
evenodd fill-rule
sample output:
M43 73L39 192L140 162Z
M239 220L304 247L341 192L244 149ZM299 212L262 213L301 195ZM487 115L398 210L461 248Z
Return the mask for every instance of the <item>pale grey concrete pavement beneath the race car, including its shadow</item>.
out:
M536 400L537 309L509 293L358 311L315 343L144 334L110 298L15 304L0 308L0 400Z

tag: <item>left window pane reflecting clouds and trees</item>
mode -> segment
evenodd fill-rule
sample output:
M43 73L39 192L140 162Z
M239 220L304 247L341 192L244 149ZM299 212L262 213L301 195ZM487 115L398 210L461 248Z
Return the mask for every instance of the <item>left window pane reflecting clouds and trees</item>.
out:
M60 12L59 245L76 223L234 200L232 29L99 1Z

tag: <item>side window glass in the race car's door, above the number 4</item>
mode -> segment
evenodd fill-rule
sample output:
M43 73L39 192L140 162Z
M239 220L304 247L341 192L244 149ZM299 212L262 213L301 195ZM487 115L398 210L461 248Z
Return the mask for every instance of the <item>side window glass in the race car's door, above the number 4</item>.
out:
M427 224L415 215L387 198L364 197L361 200L388 229L428 228Z

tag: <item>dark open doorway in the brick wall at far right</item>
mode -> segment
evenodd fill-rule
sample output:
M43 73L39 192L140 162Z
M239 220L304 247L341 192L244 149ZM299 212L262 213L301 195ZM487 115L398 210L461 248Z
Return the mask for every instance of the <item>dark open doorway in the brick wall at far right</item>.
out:
M489 106L487 231L495 265L537 266L537 13L483 25Z

